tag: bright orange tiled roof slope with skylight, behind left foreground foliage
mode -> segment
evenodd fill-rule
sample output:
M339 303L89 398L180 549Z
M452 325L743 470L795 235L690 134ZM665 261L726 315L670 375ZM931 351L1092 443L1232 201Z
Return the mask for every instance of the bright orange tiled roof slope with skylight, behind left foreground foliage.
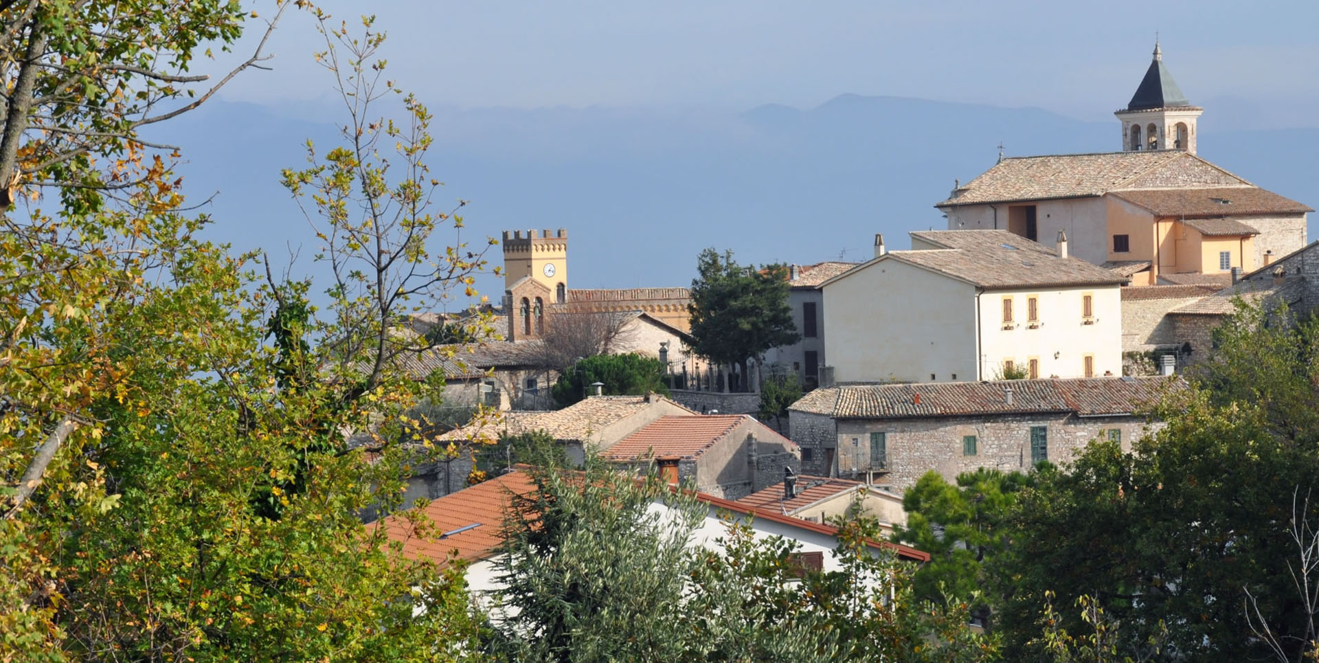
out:
M384 518L375 526L384 527L389 540L402 543L408 558L445 562L452 555L475 562L489 558L504 542L504 511L512 497L532 489L532 477L525 472L509 472L426 505L426 515L434 523L429 535L418 534L402 514ZM454 534L438 538L445 533Z

